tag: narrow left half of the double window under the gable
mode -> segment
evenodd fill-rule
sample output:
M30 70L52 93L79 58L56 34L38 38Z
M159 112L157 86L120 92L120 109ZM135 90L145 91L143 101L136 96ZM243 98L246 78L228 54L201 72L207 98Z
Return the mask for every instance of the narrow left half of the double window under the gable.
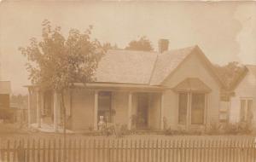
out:
M180 93L178 95L178 123L186 124L187 121L188 94Z

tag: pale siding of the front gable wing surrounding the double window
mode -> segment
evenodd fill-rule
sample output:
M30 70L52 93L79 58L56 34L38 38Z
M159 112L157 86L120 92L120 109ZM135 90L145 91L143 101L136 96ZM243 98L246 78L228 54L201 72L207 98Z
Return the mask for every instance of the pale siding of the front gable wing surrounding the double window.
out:
M172 76L167 78L164 85L173 88L186 78L199 78L204 84L212 90L207 94L207 124L218 122L219 110L219 85L215 78L211 75L207 67L201 59L196 55L189 55L189 58L172 73ZM167 119L167 124L171 128L177 129L178 125L178 95L173 90L164 92L163 107L164 114Z

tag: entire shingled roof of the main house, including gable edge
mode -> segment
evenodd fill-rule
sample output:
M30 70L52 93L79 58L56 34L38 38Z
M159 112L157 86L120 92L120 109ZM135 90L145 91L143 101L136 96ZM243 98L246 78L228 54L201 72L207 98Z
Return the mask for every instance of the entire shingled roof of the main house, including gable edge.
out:
M160 85L193 53L194 49L199 47L195 45L162 54L122 49L108 50L96 69L96 82ZM201 52L201 49L199 51ZM199 55L202 56L203 53ZM202 58L212 71L212 63L206 56ZM218 76L214 75L214 77Z

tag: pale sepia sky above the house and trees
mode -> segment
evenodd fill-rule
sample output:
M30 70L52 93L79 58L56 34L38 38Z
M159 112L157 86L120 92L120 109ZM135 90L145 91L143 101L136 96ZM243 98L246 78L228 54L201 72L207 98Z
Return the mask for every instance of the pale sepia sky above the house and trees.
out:
M92 37L119 48L147 36L157 50L160 38L169 49L199 45L213 63L256 65L256 2L0 2L1 79L10 80L14 94L30 84L26 58L19 47L41 38L42 21L81 32L93 26Z

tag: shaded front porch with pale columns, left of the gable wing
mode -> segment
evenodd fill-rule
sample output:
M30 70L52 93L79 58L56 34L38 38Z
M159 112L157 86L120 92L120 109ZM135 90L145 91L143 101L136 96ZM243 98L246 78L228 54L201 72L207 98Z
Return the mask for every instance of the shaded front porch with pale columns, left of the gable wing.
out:
M125 124L128 130L162 128L162 90L144 86L128 90L105 87L105 84L103 87L102 84L95 86L84 88L77 84L65 94L68 130L98 130L100 116L108 125ZM32 104L32 100L35 103ZM50 131L61 131L63 121L59 94L29 89L28 103L29 125L38 130L45 126Z

